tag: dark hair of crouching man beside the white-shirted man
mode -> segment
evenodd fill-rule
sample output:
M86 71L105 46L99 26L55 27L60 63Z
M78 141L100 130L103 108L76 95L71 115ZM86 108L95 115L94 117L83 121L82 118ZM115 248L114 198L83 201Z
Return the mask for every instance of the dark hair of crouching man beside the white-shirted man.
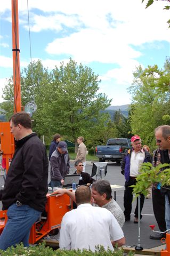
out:
M109 200L111 198L111 186L108 180L97 180L93 182L92 188L96 190L101 196L105 193L106 199Z

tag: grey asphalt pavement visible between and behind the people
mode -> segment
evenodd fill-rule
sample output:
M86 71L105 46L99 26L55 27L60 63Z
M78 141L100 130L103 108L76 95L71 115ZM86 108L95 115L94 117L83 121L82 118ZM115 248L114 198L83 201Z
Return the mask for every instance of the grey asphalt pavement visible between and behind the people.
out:
M71 167L70 174L72 174L75 171L73 161L70 163L70 167ZM86 163L85 171L88 172L89 174L92 173L92 163L90 162ZM124 175L120 173L120 165L117 165L116 163L108 162L107 171L108 171L107 175L106 177L104 177L104 179L109 180L110 184L112 185L124 186L125 178L124 178ZM120 205L120 207L124 211L123 197L124 197L124 191L116 192L116 202ZM123 226L123 231L126 238L126 246L133 247L137 245L137 242L139 242L138 241L138 225L133 223L136 200L132 203L132 205L133 206L132 206L131 221L125 222ZM150 199L145 198L142 215L143 215L143 218L141 220L141 228L140 228L141 246L145 249L150 249L156 246L163 245L163 243L161 243L160 240L153 240L149 238L150 234L152 234L152 231L149 225L156 225L155 230L159 230L156 219L153 214L152 198Z

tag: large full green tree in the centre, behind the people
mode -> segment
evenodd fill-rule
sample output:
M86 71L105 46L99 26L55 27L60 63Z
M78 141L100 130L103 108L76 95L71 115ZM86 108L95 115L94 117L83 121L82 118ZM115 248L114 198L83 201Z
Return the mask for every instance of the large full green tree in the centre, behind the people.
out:
M77 65L71 59L66 66L61 62L52 71L51 83L42 88L41 111L36 113L38 130L54 133L57 129L76 145L78 136L90 136L95 123L106 116L100 110L111 102L105 94L98 93L99 83L98 75L91 68Z

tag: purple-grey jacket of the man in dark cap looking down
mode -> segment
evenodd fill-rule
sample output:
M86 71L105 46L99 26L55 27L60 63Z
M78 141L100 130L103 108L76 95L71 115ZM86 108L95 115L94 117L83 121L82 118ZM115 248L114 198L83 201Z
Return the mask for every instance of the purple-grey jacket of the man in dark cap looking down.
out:
M70 171L70 158L69 154L60 154L58 148L55 149L51 158L51 180L60 181L64 179L66 174L69 174Z

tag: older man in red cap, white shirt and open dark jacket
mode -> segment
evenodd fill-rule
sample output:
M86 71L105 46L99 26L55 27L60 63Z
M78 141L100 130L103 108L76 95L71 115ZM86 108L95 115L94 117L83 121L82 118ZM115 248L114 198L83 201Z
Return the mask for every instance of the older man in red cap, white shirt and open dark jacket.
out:
M128 149L124 155L121 168L121 173L125 175L125 193L124 193L124 215L125 221L131 220L131 211L132 211L132 200L133 200L133 188L130 186L136 184L136 177L139 174L139 169L142 163L152 162L152 157L150 153L142 148L141 138L138 135L134 135L131 138L132 149ZM142 211L144 203L144 195L141 194L141 207ZM138 198L135 208L135 218L134 223L138 223ZM142 214L140 214L140 219L142 219Z

